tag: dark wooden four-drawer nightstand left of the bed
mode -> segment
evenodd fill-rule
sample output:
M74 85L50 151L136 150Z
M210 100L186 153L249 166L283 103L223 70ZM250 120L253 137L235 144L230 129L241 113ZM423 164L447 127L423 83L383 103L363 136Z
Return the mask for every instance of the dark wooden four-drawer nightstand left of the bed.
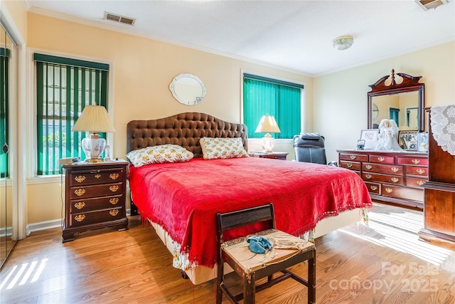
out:
M63 165L65 169L65 222L63 242L77 232L115 227L128 229L124 160Z

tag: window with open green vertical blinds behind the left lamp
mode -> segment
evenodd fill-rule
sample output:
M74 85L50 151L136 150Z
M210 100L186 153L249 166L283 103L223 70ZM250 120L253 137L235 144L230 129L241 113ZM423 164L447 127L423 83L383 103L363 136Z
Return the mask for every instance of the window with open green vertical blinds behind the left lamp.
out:
M37 172L58 174L58 159L85 155L80 142L86 133L71 131L85 105L107 108L109 65L39 53L34 60Z

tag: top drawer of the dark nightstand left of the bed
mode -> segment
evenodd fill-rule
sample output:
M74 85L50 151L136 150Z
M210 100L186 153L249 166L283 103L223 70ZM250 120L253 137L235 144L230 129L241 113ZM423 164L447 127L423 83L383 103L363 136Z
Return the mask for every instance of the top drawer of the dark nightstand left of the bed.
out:
M122 181L123 169L92 169L73 171L70 186L86 186L90 184L107 184Z

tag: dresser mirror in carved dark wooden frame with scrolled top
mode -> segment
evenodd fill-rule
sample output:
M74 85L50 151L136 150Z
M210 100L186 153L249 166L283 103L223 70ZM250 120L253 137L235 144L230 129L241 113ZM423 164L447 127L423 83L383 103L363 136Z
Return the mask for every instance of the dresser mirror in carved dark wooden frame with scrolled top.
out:
M370 85L368 128L375 129L382 119L397 122L399 130L424 131L424 83L422 76L405 73L385 75Z

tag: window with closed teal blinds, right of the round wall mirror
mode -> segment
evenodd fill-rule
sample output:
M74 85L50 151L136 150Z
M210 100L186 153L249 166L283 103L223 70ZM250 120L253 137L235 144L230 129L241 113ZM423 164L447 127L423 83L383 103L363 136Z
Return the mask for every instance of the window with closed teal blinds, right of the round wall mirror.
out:
M262 115L273 115L280 133L275 138L292 138L301 131L301 90L303 85L245 73L243 75L243 123L248 138L261 138L255 133Z

